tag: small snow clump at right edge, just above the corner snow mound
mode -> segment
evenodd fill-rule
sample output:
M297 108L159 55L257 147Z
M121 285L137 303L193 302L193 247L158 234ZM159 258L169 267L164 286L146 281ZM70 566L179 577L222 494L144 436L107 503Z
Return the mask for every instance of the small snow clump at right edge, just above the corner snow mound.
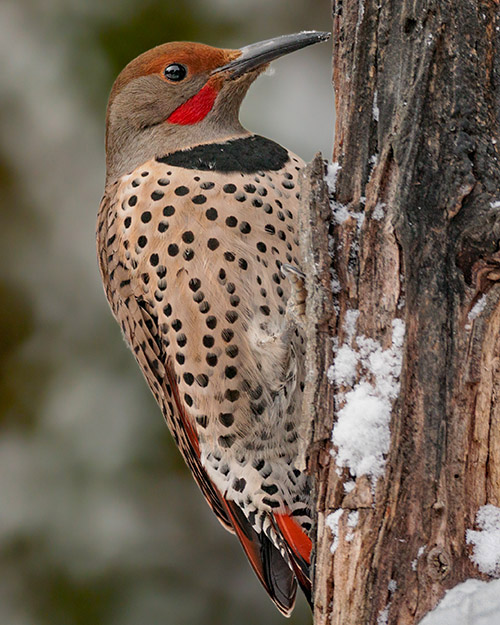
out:
M467 544L473 545L471 560L481 573L500 575L500 508L487 504L476 514L478 531L467 530Z

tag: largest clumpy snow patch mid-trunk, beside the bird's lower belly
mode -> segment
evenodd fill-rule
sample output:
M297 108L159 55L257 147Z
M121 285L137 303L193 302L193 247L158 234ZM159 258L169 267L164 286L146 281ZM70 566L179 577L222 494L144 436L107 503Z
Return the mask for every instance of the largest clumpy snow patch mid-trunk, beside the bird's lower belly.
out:
M356 319L354 315L346 318L346 324L352 325L349 332L354 332ZM374 339L358 336L358 350L340 348L332 365L331 378L350 381L350 385L355 379L353 372L360 372L359 382L345 394L345 404L333 427L332 441L337 451L332 453L338 467L348 467L353 477L366 474L373 484L384 472L389 451L389 423L392 402L399 394L404 333L404 322L395 319L389 349L383 350Z

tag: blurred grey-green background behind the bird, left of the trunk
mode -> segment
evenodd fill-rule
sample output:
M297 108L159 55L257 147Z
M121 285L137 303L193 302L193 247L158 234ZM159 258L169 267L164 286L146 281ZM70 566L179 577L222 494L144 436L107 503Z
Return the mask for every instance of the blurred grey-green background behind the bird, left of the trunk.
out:
M0 623L284 624L184 467L95 260L112 82L169 40L331 30L329 0L2 0ZM244 125L310 160L330 44L274 63ZM308 624L303 600L289 623Z

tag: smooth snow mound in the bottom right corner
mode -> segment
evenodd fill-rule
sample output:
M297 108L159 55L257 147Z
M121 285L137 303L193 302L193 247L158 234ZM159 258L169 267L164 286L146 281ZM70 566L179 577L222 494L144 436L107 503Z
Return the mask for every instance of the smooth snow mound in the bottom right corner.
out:
M498 625L500 580L468 579L445 594L419 625Z

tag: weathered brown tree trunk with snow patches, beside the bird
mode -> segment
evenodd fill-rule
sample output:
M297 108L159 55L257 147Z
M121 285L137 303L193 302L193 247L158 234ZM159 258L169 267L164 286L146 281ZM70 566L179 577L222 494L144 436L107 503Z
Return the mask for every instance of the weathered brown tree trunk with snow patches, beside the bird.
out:
M413 625L481 577L466 530L500 506L499 5L333 15L340 168L333 211L305 172L301 228L314 622Z

